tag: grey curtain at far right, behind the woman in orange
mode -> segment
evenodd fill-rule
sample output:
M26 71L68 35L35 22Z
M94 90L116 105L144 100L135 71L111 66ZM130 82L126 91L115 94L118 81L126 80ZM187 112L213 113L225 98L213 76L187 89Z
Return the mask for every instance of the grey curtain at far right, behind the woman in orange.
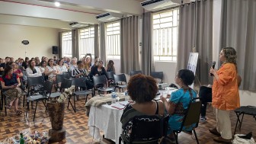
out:
M256 91L256 1L222 0L220 47L235 48L240 88Z

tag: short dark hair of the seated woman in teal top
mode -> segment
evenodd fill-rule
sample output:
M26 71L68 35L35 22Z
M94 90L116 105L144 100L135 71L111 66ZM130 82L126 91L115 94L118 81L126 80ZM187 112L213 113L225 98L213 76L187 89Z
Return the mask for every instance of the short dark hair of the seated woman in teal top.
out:
M194 82L194 73L189 69L181 69L178 72L178 78L181 78L181 81L184 85L192 85Z

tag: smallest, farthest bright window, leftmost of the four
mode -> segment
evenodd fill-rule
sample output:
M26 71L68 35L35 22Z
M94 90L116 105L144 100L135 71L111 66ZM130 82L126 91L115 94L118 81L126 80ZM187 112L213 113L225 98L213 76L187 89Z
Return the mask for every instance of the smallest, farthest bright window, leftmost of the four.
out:
M72 57L72 32L62 33L62 57Z

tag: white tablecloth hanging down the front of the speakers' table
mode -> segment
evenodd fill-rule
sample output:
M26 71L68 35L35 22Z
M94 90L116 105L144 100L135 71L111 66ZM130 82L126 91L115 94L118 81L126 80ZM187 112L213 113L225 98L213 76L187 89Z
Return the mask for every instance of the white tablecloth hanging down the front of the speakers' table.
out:
M88 126L91 136L99 140L100 130L104 132L107 139L112 139L118 143L120 134L122 133L122 123L120 118L123 110L104 104L101 107L91 107Z

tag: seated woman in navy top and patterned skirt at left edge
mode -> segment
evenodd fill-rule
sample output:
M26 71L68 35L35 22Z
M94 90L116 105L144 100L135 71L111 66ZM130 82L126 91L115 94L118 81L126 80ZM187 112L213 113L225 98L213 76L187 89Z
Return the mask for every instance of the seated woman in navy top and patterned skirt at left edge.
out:
M6 96L5 107L11 109L14 105L14 111L17 115L21 115L22 111L18 110L18 101L21 98L21 82L17 74L13 73L10 65L5 66L4 75L0 78L2 92Z

